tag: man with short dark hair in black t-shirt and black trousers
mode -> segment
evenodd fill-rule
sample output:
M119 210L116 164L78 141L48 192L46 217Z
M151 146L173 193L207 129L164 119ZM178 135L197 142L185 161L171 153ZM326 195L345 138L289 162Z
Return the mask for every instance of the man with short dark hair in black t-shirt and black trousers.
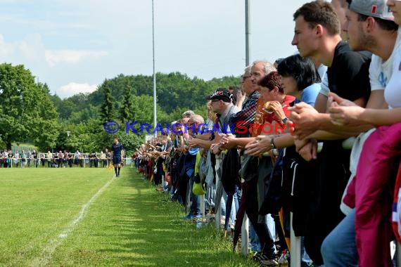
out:
M325 1L304 4L294 13L295 34L292 44L297 46L300 56L312 56L328 66L327 81L323 79L322 89L338 93L341 97L364 106L370 94L369 64L370 53L351 51L350 46L340 37L340 21L333 7ZM324 141L317 160L318 170L311 189L310 204L305 226L305 248L314 264L323 264L320 247L324 238L337 226L344 215L339 204L343 190L350 176L350 150L343 148L343 129L331 124L325 114L327 92L321 91L315 102L315 110L306 103L295 104L291 109L291 121L295 122L295 135L303 143L295 143L298 151L316 151L316 140ZM324 107L324 109L322 109ZM319 112L321 113L319 113ZM314 132L319 135L310 135ZM337 133L333 136L329 133ZM306 137L306 138L305 138ZM305 139L305 140L303 140ZM310 157L311 158L311 157Z

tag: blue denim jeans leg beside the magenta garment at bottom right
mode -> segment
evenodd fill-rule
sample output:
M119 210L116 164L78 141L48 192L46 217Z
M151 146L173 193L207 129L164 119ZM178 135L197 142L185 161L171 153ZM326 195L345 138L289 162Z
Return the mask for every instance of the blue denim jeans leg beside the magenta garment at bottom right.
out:
M355 242L355 209L324 239L321 252L325 267L358 266Z

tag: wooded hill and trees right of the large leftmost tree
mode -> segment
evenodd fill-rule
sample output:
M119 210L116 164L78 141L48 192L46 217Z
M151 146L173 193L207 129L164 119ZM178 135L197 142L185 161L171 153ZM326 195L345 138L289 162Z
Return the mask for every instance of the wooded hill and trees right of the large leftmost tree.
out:
M205 81L197 77L190 78L180 72L157 73L156 79L158 79L157 122L163 128L167 123L180 119L185 110L193 110L205 116L205 96L219 87L240 84L239 77L213 78ZM57 146L65 143L70 150L77 148L86 152L98 151L110 146L114 136L120 138L129 136L125 143L131 148L134 145L129 144L133 142L143 143L144 136L132 131L126 134L125 121L130 123L137 121L134 128L139 133L141 123L151 124L151 132L154 129L151 76L119 74L112 79L106 79L93 93L79 93L63 100L56 95L50 97L60 113L60 122L63 123ZM118 133L110 135L104 131L103 123L108 120L115 120L120 124ZM99 121L101 125L99 123L96 126L92 125ZM70 126L71 136L63 140L65 131Z

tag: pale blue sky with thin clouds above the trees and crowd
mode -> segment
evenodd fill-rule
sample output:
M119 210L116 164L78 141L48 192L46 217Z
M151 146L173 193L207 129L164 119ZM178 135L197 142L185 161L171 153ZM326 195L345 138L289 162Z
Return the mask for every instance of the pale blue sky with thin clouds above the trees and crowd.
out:
M244 0L154 0L155 69L212 79L245 67ZM295 53L306 1L250 0L250 60ZM151 0L0 0L0 62L23 64L62 98L117 74L153 73ZM285 3L285 4L284 4Z

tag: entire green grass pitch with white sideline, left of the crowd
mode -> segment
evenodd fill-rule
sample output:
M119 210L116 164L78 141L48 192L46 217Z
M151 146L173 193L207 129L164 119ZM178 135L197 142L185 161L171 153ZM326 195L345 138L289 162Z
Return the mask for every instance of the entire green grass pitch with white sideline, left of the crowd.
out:
M0 266L256 266L134 169L0 169Z

